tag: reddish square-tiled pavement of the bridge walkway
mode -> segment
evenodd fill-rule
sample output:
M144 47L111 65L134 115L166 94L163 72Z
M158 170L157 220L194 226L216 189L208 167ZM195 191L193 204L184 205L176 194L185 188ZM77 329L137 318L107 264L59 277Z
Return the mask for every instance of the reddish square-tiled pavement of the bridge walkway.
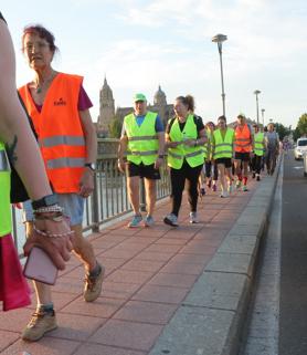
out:
M25 343L20 331L35 304L0 312L0 353L148 354L250 201L255 181L250 188L227 199L210 191L199 202L198 225L189 225L183 198L177 229L161 222L170 210L165 200L157 206L151 228L128 229L127 221L121 221L92 234L97 260L106 267L102 296L94 303L83 301L83 267L72 258L53 292L59 328L40 342Z

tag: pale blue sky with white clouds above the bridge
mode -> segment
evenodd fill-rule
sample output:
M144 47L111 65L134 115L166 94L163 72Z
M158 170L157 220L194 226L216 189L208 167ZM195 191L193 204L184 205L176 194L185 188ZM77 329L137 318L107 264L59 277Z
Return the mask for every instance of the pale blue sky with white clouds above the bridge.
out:
M21 52L24 25L40 23L55 35L57 71L84 76L99 114L106 76L115 105L131 106L136 92L152 103L161 85L168 103L191 94L203 121L222 114L220 56L223 42L225 111L260 122L296 126L307 112L306 0L8 0L0 8L17 54L17 84L33 77ZM1 50L1 49L0 49ZM262 109L264 115L262 115Z

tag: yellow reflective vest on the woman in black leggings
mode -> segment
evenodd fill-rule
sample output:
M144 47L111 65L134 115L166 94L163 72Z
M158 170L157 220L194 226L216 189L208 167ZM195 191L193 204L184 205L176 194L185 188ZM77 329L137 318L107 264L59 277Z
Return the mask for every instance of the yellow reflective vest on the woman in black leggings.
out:
M173 121L173 124L169 133L172 142L183 142L187 139L197 139L198 129L194 123L193 115L189 115L184 125L183 130L180 130L178 119ZM183 164L183 159L188 161L190 167L200 166L203 164L203 152L201 146L188 147L184 144L178 145L176 148L168 149L168 166L173 169L180 169Z

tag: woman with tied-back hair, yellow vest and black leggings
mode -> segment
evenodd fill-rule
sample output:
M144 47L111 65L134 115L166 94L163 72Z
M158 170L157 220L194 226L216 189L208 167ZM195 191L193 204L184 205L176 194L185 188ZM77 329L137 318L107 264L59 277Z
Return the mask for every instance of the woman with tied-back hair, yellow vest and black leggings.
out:
M193 114L194 98L192 96L177 97L173 109L176 116L168 122L166 128L172 209L163 221L169 226L177 227L186 180L188 181L191 209L190 222L198 222L198 180L203 167L202 146L208 138L202 118Z

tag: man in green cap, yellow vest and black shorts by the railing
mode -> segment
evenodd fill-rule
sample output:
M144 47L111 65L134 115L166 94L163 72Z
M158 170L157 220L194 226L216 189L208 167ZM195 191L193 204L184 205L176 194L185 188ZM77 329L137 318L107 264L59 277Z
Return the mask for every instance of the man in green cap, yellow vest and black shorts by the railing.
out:
M156 180L160 179L159 168L163 163L165 133L160 117L147 111L144 94L134 97L135 111L125 116L118 147L118 169L127 173L128 196L134 218L128 227L139 227L142 222L139 202L139 181L145 179L147 216L146 227L154 225L156 203ZM127 153L127 163L124 155Z

